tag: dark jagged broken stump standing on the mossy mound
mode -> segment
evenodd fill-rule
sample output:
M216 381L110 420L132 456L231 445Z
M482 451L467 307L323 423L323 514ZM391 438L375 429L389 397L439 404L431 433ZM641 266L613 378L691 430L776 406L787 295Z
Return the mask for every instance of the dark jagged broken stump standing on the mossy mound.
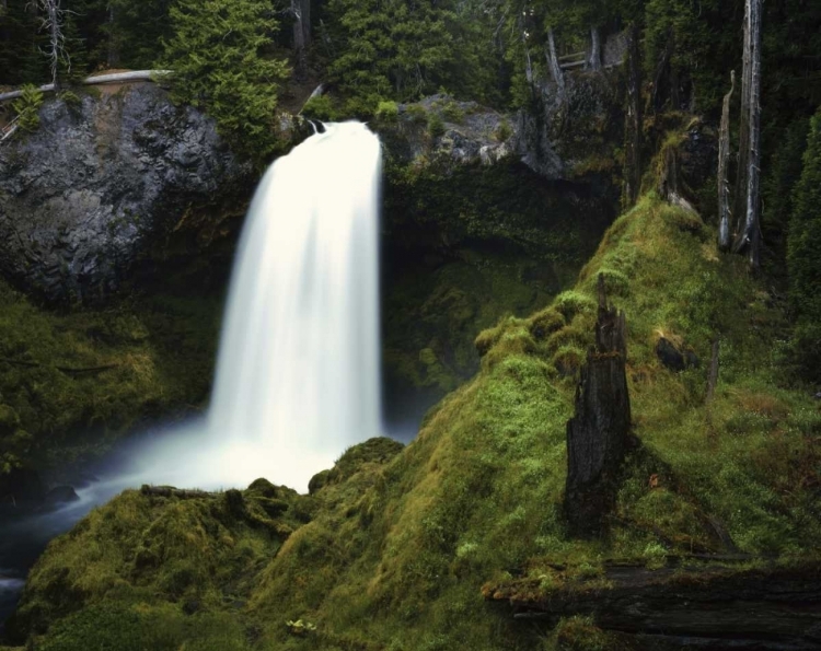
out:
M618 469L631 427L624 313L608 305L599 276L595 347L576 387L576 414L567 421L565 513L570 531L594 537L615 504Z

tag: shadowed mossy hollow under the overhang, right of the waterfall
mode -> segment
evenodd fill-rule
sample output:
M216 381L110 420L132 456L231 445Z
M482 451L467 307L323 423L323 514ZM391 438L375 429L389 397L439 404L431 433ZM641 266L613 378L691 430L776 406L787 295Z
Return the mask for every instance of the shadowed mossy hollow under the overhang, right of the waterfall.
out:
M478 369L473 340L482 329L525 316L573 284L613 212L588 191L545 183L520 165L389 158L389 395L432 402L452 391Z

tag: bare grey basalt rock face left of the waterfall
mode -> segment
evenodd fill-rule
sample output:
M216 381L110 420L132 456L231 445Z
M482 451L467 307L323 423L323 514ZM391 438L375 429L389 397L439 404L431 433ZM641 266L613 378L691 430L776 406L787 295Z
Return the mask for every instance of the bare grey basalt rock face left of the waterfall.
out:
M182 241L219 239L254 182L212 120L152 83L49 101L0 147L0 272L50 303L100 303Z

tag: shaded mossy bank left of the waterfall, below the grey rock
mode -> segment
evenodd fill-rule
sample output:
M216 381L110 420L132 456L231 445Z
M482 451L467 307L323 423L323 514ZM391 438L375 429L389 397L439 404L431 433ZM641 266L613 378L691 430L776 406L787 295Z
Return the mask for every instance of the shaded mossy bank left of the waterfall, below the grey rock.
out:
M140 422L198 408L220 310L216 297L165 294L54 312L0 282L0 472L94 456Z

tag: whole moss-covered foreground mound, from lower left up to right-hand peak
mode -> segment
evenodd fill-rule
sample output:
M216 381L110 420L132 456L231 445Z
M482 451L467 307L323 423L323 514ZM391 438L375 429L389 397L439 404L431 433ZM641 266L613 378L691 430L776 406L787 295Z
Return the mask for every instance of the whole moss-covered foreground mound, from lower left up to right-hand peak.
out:
M594 579L611 558L654 568L695 550L805 557L821 536L821 410L779 385L780 313L714 241L693 213L646 197L571 292L481 335L479 373L412 444L394 456L373 444L351 467L343 457L335 480L288 498L311 520L281 547L269 525L229 519L227 497L160 508L126 493L51 544L21 607L41 628L21 633L43 649L76 648L59 647L60 636L108 648L99 641L123 627L163 631L153 649L603 649L610 638L594 620L548 637L489 607L483 584L516 574L550 593L550 562ZM562 511L565 423L599 272L627 314L637 444L609 537L580 542ZM656 344L663 335L707 360L717 334L719 382L705 405L708 364L677 373ZM177 569L185 580L172 580ZM66 615L68 602L83 607Z

